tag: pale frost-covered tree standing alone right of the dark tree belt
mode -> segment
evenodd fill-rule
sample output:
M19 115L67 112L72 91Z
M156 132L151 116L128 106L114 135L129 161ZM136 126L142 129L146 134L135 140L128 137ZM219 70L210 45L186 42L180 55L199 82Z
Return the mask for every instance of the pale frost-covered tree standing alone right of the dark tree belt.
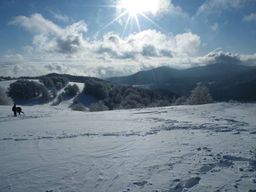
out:
M191 96L188 98L189 105L203 105L213 102L209 88L204 85L196 86L191 93Z

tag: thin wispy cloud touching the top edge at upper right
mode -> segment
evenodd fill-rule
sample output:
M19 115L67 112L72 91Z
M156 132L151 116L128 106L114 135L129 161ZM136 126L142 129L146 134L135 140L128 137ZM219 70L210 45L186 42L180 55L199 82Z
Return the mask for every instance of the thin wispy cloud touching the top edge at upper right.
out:
M223 10L232 10L244 7L253 3L254 0L207 0L196 12L196 15L220 14Z

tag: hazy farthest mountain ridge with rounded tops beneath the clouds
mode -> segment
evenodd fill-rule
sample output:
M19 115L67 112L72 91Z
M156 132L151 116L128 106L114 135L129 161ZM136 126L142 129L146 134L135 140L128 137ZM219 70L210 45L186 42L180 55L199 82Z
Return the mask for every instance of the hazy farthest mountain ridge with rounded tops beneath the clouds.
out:
M171 78L178 77L200 77L200 76L214 76L225 75L228 73L241 72L256 67L249 67L245 65L236 64L221 64L214 63L205 66L187 68L187 69L174 69L167 66L162 66L147 71L139 71L130 76L111 77L106 80L118 84L161 84Z

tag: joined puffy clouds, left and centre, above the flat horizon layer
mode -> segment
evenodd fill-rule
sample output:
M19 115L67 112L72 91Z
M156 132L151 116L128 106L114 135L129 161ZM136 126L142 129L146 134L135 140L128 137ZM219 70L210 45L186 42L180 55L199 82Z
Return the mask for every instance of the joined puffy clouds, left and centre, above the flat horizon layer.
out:
M40 26L36 23L38 18L41 21ZM41 58L86 58L89 55L104 57L105 60L171 58L173 55L194 54L199 50L201 43L200 37L191 32L172 36L150 29L124 38L108 32L99 40L84 39L83 32L88 29L83 20L60 28L40 14L19 16L10 24L19 24L31 32L37 32L33 37L32 46L26 46L24 50L32 57ZM40 31L41 28L44 30Z

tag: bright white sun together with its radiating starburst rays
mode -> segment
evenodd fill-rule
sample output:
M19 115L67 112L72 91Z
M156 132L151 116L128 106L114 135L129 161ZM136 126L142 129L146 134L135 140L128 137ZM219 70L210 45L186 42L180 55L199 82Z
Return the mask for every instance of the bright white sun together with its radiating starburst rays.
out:
M148 16L144 14L147 12L151 12L155 14L159 10L159 0L119 0L118 5L104 5L104 7L115 7L117 9L124 10L124 12L122 12L114 20L110 21L107 25L102 27L100 31L108 27L113 22L117 21L119 18L123 17L125 14L129 14L129 15L126 20L126 24L124 26L123 36L129 21L133 19L136 21L139 31L141 31L140 23L137 17L137 14L140 14L141 16L146 18L149 22L153 23L157 28L161 29L164 33L166 33L163 28L161 28L159 25L157 25L154 21L149 19Z

